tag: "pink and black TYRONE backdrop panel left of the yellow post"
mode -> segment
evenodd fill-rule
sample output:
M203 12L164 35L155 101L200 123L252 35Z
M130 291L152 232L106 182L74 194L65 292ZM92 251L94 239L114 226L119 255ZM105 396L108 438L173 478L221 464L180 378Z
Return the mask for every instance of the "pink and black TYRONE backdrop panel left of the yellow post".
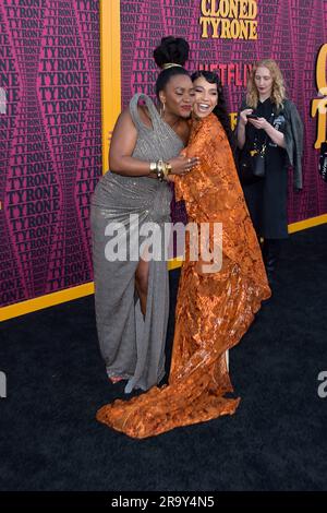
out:
M0 305L92 281L99 2L1 0ZM3 109L4 110L4 109Z

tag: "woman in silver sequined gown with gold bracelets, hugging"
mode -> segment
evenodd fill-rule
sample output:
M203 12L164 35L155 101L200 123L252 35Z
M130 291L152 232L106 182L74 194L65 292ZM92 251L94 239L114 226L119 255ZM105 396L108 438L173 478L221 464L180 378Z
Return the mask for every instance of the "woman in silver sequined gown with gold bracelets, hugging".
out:
M178 156L187 142L186 119L194 96L192 81L181 65L187 58L185 44L184 39L164 38L155 50L156 62L166 68L156 84L164 112L160 116L145 95L132 98L113 131L110 171L100 179L92 199L99 345L108 377L113 382L129 380L126 393L148 390L165 373L167 261L160 258L146 262L149 248L143 244L142 230L146 223L156 223L164 241L165 223L170 222L171 191L166 181L153 177L149 163L169 162L172 174L181 175L197 162ZM145 106L140 105L140 99ZM116 261L108 259L118 235L124 232L125 255Z

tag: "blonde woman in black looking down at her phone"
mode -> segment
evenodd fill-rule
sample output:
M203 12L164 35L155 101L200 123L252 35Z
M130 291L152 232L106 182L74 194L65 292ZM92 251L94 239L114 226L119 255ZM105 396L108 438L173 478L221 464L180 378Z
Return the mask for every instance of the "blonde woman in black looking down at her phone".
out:
M303 147L301 118L286 98L282 74L272 59L254 64L240 110L237 138L242 155L266 145L265 177L243 183L243 190L257 236L264 238L263 256L272 284L281 240L288 237L288 167L293 167L294 188L302 189Z

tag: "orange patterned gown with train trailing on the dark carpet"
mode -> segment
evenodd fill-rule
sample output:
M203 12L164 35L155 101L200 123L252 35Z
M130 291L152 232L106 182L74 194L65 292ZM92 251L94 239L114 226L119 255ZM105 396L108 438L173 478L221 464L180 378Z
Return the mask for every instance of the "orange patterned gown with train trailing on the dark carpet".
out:
M193 122L184 153L198 156L201 165L174 177L177 199L184 199L189 222L222 223L222 267L203 272L204 262L191 261L186 244L169 384L98 410L100 422L133 438L235 411L240 398L223 397L232 392L226 350L240 342L261 301L270 296L232 153L215 115ZM214 231L211 248L213 242Z

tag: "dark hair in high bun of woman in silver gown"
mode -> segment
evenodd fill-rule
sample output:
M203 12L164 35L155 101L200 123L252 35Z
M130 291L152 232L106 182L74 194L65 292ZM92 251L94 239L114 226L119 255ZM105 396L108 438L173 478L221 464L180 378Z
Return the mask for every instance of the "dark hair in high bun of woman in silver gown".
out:
M190 76L189 72L184 68L181 68L185 64L186 60L189 59L189 43L182 37L162 37L160 45L157 46L154 51L154 59L156 61L156 64L159 68L162 68L164 64L168 63L174 63L180 65L168 68L168 70L162 70L159 73L159 76L156 82L157 98L159 98L160 91L165 90L166 85L172 76Z

